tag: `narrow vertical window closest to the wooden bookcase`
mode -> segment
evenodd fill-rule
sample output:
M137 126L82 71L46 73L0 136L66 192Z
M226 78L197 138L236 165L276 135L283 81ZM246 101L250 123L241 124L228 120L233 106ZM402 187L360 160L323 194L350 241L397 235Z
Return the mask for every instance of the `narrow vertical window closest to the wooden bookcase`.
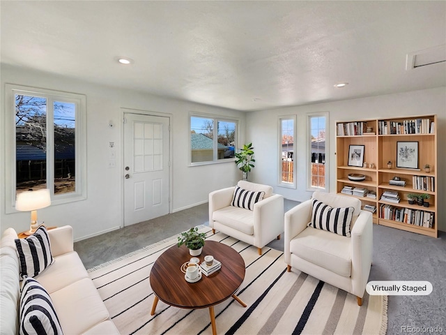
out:
M328 112L308 115L309 188L328 190Z

